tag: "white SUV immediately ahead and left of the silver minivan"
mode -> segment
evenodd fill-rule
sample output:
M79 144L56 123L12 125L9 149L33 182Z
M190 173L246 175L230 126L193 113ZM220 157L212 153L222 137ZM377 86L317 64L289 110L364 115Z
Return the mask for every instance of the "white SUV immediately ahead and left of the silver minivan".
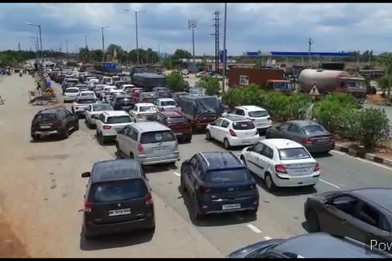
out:
M109 139L115 139L117 132L132 122L125 111L104 111L95 121L96 137L101 145Z

